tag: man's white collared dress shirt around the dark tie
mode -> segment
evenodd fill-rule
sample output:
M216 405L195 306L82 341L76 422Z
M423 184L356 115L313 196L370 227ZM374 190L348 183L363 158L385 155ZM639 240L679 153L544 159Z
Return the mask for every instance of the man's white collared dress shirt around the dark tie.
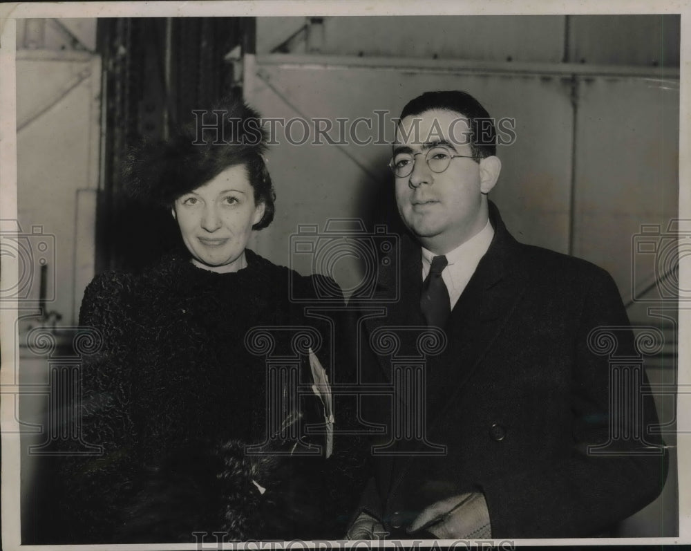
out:
M471 280L480 259L489 249L489 245L494 237L494 228L487 220L486 225L465 243L461 243L451 252L446 253L448 264L442 272L444 285L448 290L448 298L451 301L451 309L456 305L458 297ZM425 280L430 271L432 259L437 256L426 248L422 248L422 281Z

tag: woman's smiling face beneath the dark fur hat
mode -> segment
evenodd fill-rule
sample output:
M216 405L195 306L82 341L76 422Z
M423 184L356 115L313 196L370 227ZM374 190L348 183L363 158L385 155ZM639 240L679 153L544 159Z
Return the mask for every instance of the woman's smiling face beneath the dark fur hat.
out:
M252 225L263 214L264 203L254 203L245 165L225 169L173 205L173 217L192 262L213 272L236 272L243 267Z

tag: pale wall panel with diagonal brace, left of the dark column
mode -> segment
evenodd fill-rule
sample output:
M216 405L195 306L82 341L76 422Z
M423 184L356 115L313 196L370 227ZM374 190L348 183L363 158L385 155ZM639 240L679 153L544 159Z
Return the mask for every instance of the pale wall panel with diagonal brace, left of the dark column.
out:
M77 192L98 185L100 70L100 58L86 53L17 54L19 224L25 233L40 225L54 236L46 310L67 325L77 321L84 281L93 278L95 227L84 221L94 213L79 212L88 203L77 201ZM32 300L39 291L32 284Z

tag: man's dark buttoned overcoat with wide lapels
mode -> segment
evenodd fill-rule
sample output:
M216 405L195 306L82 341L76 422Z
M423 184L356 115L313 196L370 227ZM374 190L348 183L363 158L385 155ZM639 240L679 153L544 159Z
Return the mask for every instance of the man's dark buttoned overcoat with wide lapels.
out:
M379 296L399 299L365 319L361 373L399 384L392 401L363 399L366 420L388 429L362 509L401 534L431 503L480 491L495 538L601 534L661 492L668 465L621 297L605 270L515 241L492 203L490 219L443 335L413 337L425 326L419 245L402 237L379 266Z

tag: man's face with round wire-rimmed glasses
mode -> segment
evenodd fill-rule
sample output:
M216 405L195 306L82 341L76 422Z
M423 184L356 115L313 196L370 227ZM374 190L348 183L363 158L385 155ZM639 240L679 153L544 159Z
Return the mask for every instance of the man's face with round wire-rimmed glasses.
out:
M394 156L410 153L415 159L408 176L396 177L398 210L420 243L436 254L446 254L482 230L487 220L482 193L489 192L499 176L498 170L493 173L496 157L480 163L470 158L468 130L468 120L460 113L436 109L410 115L397 127ZM446 170L434 172L425 156L439 145L463 157L451 158Z

